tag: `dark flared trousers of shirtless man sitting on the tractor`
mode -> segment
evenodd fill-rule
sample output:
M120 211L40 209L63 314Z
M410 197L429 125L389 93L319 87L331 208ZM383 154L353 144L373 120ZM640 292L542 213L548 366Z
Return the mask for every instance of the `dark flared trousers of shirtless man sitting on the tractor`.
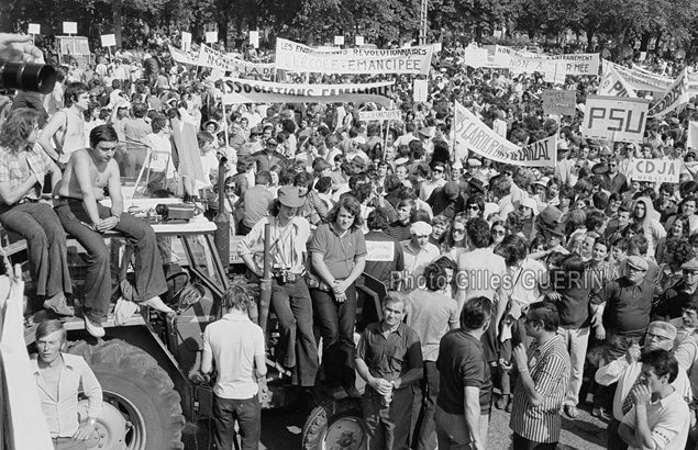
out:
M82 225L81 222L91 223L91 220L81 200L60 199L55 202L54 207L65 230L87 250L88 267L82 312L92 322L101 323L107 318L111 300L109 249L104 244L104 237ZM97 209L100 218L111 215L109 207L98 203ZM167 292L163 262L153 227L129 213L122 213L113 229L125 235L126 245L135 248L134 301L143 302Z

